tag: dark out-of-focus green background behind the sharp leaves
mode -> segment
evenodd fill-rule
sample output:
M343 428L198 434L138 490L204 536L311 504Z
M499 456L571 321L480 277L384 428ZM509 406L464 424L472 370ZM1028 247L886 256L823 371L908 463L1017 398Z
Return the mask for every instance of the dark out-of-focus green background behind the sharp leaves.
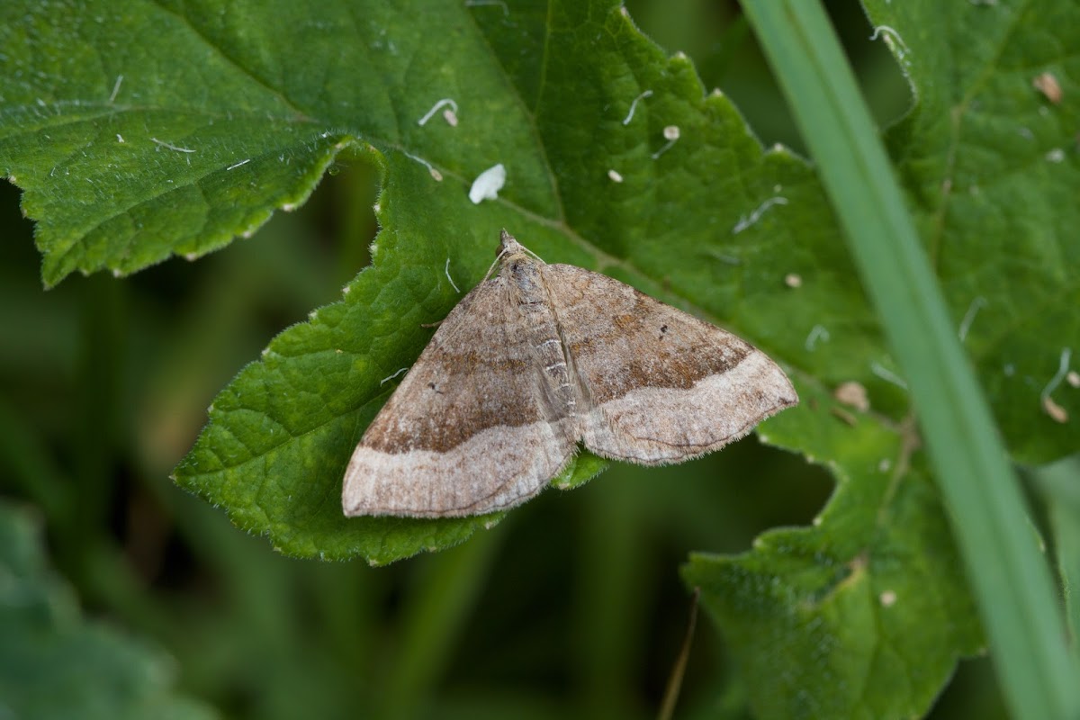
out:
M887 126L907 85L858 3L831 5ZM734 2L627 9L762 144L802 151ZM217 391L368 262L375 179L338 166L251 240L49 293L32 223L0 185L0 493L41 517L87 615L164 649L179 689L227 717L653 717L690 612L679 565L809 522L832 490L824 471L753 437L676 467L613 466L387 568L282 557L168 479ZM748 717L705 616L676 717ZM1004 717L985 660L961 666L933 717Z

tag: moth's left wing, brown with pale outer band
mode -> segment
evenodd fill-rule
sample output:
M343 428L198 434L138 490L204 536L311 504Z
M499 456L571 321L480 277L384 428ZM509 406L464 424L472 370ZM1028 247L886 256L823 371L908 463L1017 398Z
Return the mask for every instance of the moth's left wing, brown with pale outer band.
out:
M517 313L502 277L450 311L356 446L347 516L490 513L537 494L567 464L575 440L545 415Z

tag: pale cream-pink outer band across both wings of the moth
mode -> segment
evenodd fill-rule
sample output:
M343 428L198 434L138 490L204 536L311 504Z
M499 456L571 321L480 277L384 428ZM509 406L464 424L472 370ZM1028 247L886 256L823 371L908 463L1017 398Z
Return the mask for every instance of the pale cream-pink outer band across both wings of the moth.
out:
M755 351L689 389L637 388L556 424L487 427L445 452L388 453L360 445L346 472L345 506L357 515L416 517L504 510L536 495L563 471L576 450L568 437L606 458L679 462L746 435L762 417L787 406L788 388L775 365ZM578 426L564 434L566 423Z

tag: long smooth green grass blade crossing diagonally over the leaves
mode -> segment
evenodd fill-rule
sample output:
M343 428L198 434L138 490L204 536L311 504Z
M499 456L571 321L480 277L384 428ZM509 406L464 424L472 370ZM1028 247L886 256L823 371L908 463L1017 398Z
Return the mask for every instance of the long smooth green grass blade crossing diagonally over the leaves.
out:
M836 35L819 2L743 4L907 378L1014 717L1078 717L1049 568Z

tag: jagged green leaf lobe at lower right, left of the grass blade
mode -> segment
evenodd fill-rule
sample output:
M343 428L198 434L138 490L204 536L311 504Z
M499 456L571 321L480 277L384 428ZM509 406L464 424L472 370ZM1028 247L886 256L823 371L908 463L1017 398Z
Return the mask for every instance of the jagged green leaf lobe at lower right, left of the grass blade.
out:
M816 406L815 437L779 416L768 439L842 458L829 463L834 497L813 527L767 532L739 556L696 554L684 578L731 643L757 717L920 717L984 641L915 427L799 392Z

